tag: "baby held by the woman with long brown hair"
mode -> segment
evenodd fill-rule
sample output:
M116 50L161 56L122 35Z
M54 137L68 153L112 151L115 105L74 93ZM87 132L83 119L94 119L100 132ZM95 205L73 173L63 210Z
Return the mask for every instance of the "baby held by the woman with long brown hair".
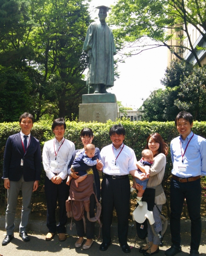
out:
M147 187L147 182L149 180L149 177L150 177L150 172L149 172L149 168L151 166L151 164L153 163L154 161L154 158L153 158L153 153L150 149L144 149L142 152L141 152L141 160L140 160L140 163L141 165L143 166L148 166L148 168L146 168L145 170L145 177L147 177L147 179L141 181L137 178L134 178L133 177L133 180L134 180L134 183L133 183L133 186L131 187L130 191L133 192L136 190L136 183L138 183L139 185L143 186L143 189L141 191L138 191L137 192L137 203L140 205L140 206L143 206L143 203L141 202L141 199L143 197L143 194L145 192L145 189ZM137 172L139 174L142 174L143 172L140 170L140 169L137 169Z

